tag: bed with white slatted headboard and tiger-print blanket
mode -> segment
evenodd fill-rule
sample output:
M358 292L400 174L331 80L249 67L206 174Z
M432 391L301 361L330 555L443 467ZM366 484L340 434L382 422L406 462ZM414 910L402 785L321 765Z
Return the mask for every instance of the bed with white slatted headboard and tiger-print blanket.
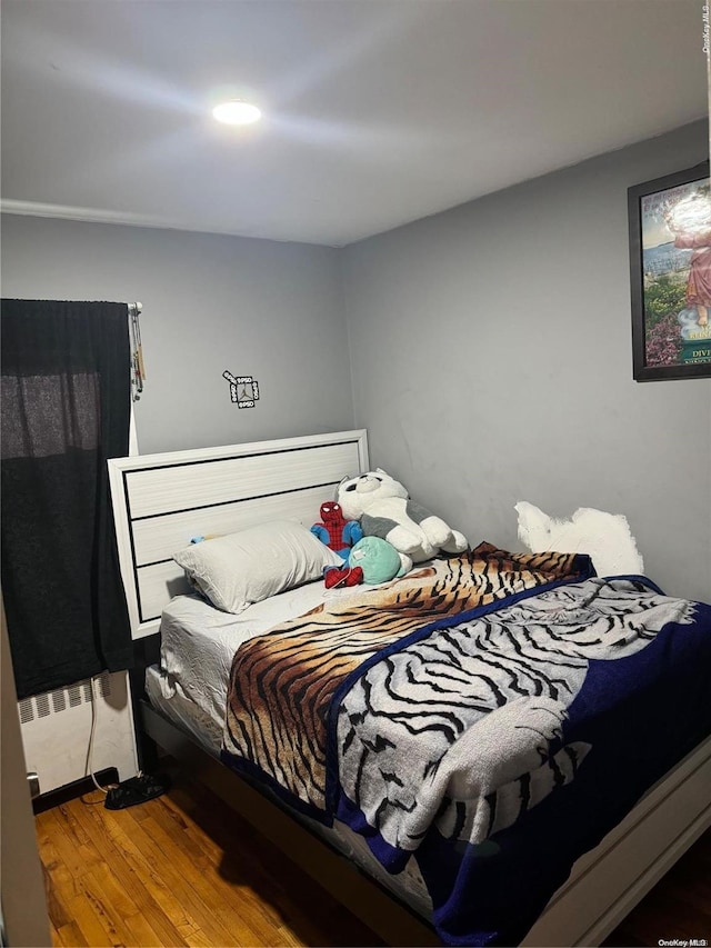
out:
M711 825L711 716L708 701L699 700L711 683L711 609L670 600L641 578L603 581L584 556L562 551L535 559L481 543L463 557L418 565L382 588L326 590L314 579L233 615L196 593L173 560L199 537L274 521L308 527L343 477L368 469L363 430L109 462L132 632L148 665L133 676L140 726L389 944L600 944ZM613 586L615 597L634 601L632 612L652 620L628 622L610 655L609 640L603 636L602 653L591 630L601 622L607 628ZM430 611L420 612L424 600ZM591 602L601 610L597 626L590 623ZM394 626L381 622L393 615ZM571 616L587 617L572 632L587 652L575 646L575 656L551 675L550 663L558 661L551 655L565 636L570 640ZM481 673L482 642L505 639L520 651L517 636L542 625L547 636L553 628L555 643L544 649L549 685L538 676L522 688L511 648L488 652ZM361 642L370 637L368 647L346 660L339 645L342 673L326 687L322 669L332 663L333 646L320 652L311 646L339 637L344 626L357 628ZM279 666L287 646L289 658ZM540 652L540 639L534 646ZM307 653L309 668L299 665ZM660 669L672 653L677 663L664 671L660 692ZM402 761L412 759L421 740L409 745L408 728L388 729L403 719L402 708L373 715L370 700L378 689L392 690L393 676L409 676L408 687L414 687L412 669L418 662L434 667L432 661L438 675L425 676L424 687L437 691L442 681L471 672L479 685L488 681L489 693L470 692L464 711L454 712L457 738L444 740L447 752L430 751L423 768L437 779L428 785L433 795L420 799L403 779L410 768ZM272 689L271 703L262 700L270 677L283 682L292 671L294 680L312 682L309 696L320 695L297 702L301 729L283 688ZM647 686L637 698L611 693L597 707L595 696L607 693L615 677ZM257 710L250 695L256 690ZM432 705L432 692L423 705ZM592 705L597 710L585 718ZM443 734L451 709L444 710L435 708L423 729ZM517 718L521 710L529 717ZM531 718L531 710L539 717ZM260 738L263 715L277 738ZM309 740L294 740L304 728ZM619 747L605 762L604 754L590 750L602 746L603 731L622 749L642 740L640 734L659 737L644 739L631 760ZM474 755L468 734L477 736L477 748L495 752ZM532 739L519 740L524 734ZM499 754L505 735L517 737L525 761L511 772ZM277 766L270 748L290 742L297 762ZM382 751L377 758L375 747ZM467 764L474 756L475 780ZM619 787L601 782L610 767Z

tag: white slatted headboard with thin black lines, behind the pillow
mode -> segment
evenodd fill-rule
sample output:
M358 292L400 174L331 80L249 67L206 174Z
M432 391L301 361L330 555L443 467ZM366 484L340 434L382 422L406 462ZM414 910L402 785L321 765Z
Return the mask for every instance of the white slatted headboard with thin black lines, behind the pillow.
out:
M310 527L347 476L368 470L363 429L109 460L121 576L134 639L158 631L189 587L172 555L192 537L268 520Z

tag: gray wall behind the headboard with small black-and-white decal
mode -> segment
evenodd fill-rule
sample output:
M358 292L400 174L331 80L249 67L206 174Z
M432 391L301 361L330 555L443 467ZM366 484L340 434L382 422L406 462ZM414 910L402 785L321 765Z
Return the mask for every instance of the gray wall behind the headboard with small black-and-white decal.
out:
M326 247L2 217L2 295L143 303L141 453L353 427L337 265ZM230 401L222 372L260 400Z

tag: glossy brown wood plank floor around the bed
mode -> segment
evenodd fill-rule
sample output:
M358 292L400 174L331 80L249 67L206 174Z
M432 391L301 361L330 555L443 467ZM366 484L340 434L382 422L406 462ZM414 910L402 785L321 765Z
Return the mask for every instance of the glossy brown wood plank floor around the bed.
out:
M36 818L54 945L383 944L184 777L138 807L110 811L102 801L97 791ZM711 942L711 832L604 944L674 938Z

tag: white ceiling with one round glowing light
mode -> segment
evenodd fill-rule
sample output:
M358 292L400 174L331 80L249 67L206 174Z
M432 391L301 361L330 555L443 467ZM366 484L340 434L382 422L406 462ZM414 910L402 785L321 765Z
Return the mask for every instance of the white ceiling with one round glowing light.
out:
M3 0L2 208L344 246L708 114L701 0ZM264 119L220 126L220 97Z

